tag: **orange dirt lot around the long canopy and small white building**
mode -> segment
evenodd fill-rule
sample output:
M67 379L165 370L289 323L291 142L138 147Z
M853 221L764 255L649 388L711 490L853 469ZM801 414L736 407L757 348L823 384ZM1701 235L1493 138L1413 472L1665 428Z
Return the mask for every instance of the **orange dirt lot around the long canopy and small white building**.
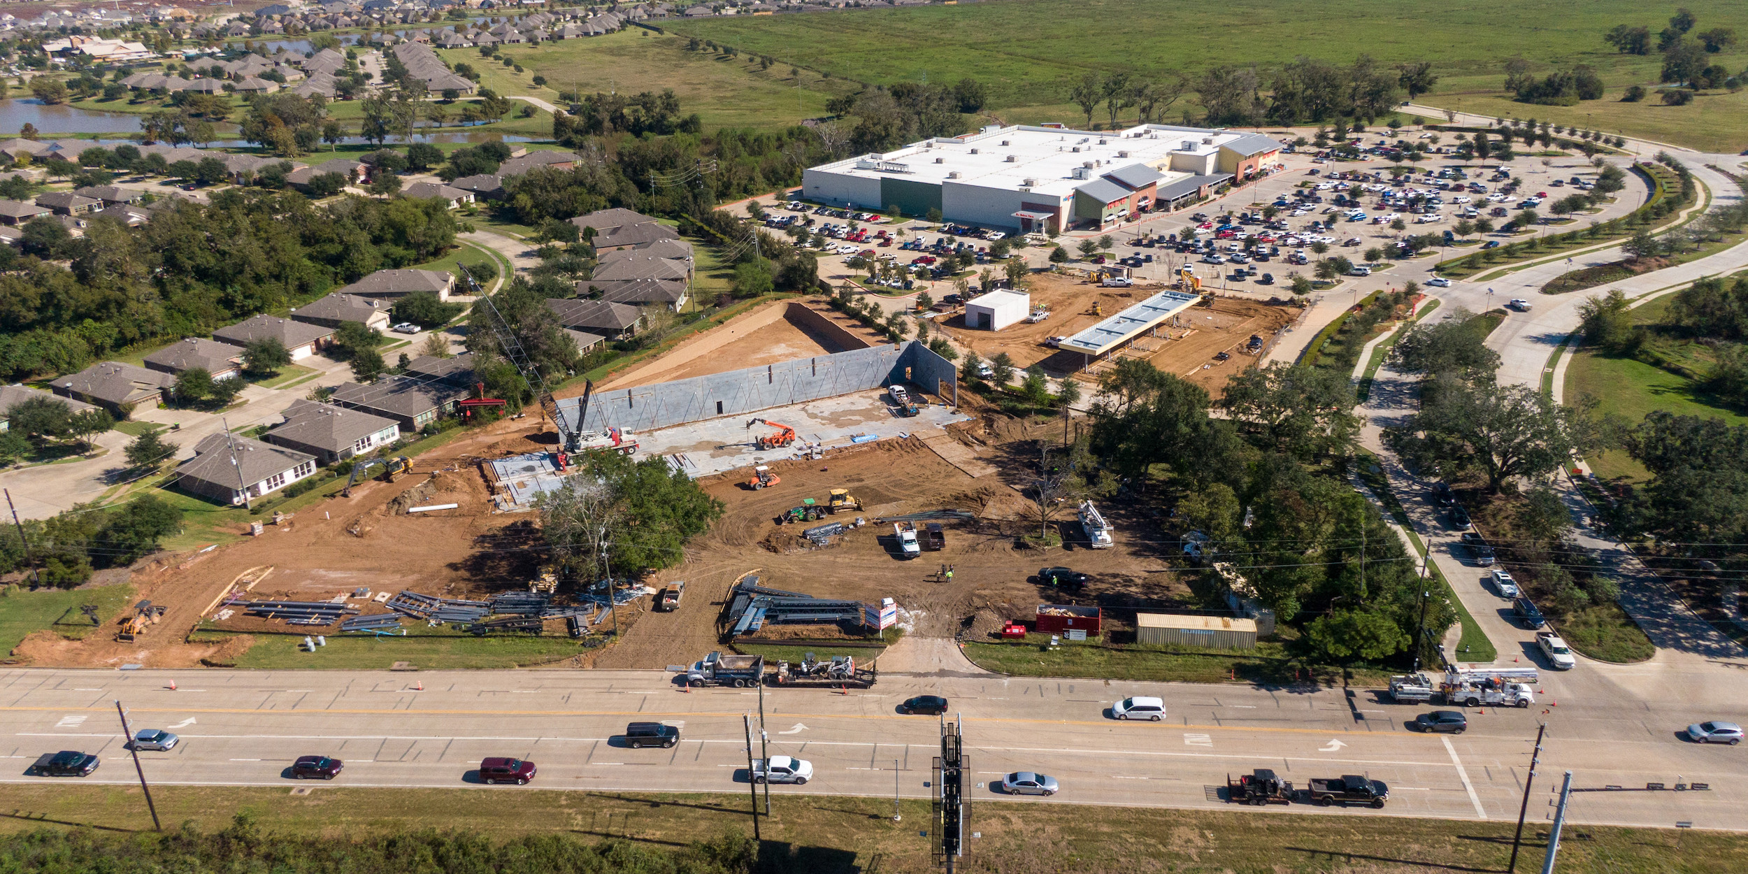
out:
M1084 378L1091 379L1108 362L1082 371L1086 360L1080 353L1056 351L1044 344L1045 337L1072 336L1092 327L1101 318L1159 294L1161 288L1159 285L1101 288L1073 276L1040 273L1033 276L1031 306L1051 311L1051 318L1045 322L1019 323L1000 332L967 329L963 313L937 322L942 322L954 341L970 346L984 358L1005 351L1019 367L1042 364L1052 376L1082 372ZM1094 304L1098 306L1096 315ZM1271 306L1243 297L1211 297L1211 306L1196 306L1182 313L1176 325L1161 327L1161 337L1143 337L1108 360L1117 357L1145 358L1154 367L1190 379L1218 397L1220 388L1232 374L1257 364L1255 357L1239 351L1250 336L1257 334L1267 344L1297 316L1299 308L1295 306ZM1164 339L1164 336L1171 339ZM1213 360L1222 351L1229 353L1231 358Z

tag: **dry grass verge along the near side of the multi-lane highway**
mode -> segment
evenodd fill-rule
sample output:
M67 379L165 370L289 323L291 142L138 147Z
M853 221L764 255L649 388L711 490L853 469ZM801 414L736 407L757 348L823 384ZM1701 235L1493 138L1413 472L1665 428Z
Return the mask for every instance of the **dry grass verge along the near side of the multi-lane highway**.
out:
M299 787L302 788L302 787ZM871 787L874 788L874 787ZM891 788L891 787L884 787ZM7 787L9 815L0 829L150 829L138 788L94 785ZM409 829L465 829L495 839L565 834L579 841L624 839L685 846L724 830L752 832L745 794L495 792L315 787L285 788L159 787L152 799L166 825L203 832L231 825L248 811L262 832L334 837ZM926 872L928 802L907 799L891 822L890 797L816 797L773 792L762 822L760 857L769 871L809 874ZM1077 804L979 802L961 871L1178 871L1178 872L1418 872L1505 871L1512 822L1421 820L1405 816L1292 816L1260 811L1183 811L1089 808ZM1545 853L1547 827L1524 830L1519 871ZM1680 841L1680 850L1676 850ZM1734 862L1731 862L1734 860ZM1528 864L1526 864L1528 862ZM1748 865L1748 843L1731 832L1568 827L1561 871L1622 874L1710 874Z

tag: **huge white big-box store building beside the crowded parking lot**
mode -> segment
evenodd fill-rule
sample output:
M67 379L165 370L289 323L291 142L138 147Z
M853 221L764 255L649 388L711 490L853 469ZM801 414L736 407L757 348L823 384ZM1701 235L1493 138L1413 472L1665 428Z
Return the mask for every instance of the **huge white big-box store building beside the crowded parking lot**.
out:
M1122 131L988 126L802 173L802 196L949 222L1065 231L1206 198L1215 185L1280 166L1283 145L1257 133L1171 124Z

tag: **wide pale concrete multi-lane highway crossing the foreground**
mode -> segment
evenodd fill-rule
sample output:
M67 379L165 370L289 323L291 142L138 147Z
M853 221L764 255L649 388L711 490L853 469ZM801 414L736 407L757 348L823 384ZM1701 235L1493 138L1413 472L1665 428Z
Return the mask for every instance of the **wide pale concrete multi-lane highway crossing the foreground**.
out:
M1470 731L1425 736L1404 727L1426 708L1377 692L1255 689L1248 685L1126 683L986 676L884 675L874 689L836 694L767 689L773 755L815 766L806 787L778 792L926 797L939 720L895 706L942 694L963 717L979 797L1007 771L1056 776L1061 794L1024 802L1206 808L1229 773L1274 767L1301 787L1313 776L1362 773L1391 787L1384 811L1363 816L1503 820L1517 815L1538 720L1549 720L1531 818L1564 767L1577 785L1710 783L1706 792L1589 792L1580 822L1748 829L1748 750L1696 746L1676 731L1697 718L1748 720L1738 689L1720 689L1717 666L1580 668L1545 676L1530 710L1470 711ZM1697 671L1697 673L1696 673ZM171 690L170 685L177 683ZM1713 697L1718 708L1692 701ZM1168 720L1115 722L1112 701L1166 699ZM1631 710L1587 699L1638 699ZM538 764L535 785L580 790L711 792L745 787L741 715L757 720L759 692L682 692L654 671L58 671L0 673L0 781L28 776L44 752L84 750L105 766L84 781L128 783L114 701L135 727L168 727L184 741L142 753L147 776L184 785L280 785L299 755L346 760L339 785L477 787L493 755ZM1547 704L1547 706L1543 706ZM1543 713L1543 710L1547 713ZM633 750L617 738L629 720L682 725L671 750ZM757 725L755 725L757 731ZM893 774L897 766L898 773ZM1552 776L1549 776L1552 774ZM484 790L484 787L481 787ZM1314 809L1314 808L1294 808Z

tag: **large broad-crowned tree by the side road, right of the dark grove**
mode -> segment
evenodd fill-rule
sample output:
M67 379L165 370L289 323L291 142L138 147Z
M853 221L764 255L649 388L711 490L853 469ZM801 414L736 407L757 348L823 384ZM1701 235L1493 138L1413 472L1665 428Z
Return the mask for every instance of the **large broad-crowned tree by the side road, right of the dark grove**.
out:
M1386 437L1398 454L1426 470L1461 475L1475 470L1489 491L1509 481L1554 474L1573 453L1594 446L1589 411L1594 404L1563 407L1536 386L1468 385L1440 379L1423 393L1421 409Z

